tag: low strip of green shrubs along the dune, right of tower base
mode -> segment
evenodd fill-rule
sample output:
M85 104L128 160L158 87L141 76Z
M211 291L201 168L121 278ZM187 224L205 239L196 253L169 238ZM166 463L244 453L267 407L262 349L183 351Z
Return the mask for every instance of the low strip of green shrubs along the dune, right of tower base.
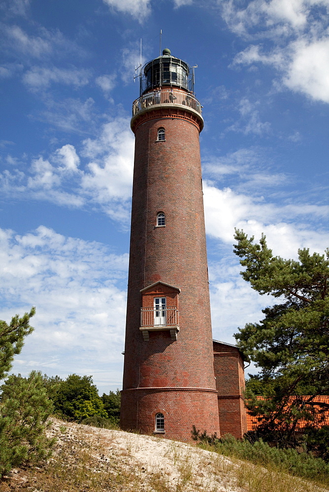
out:
M262 439L256 442L251 442L248 439L238 440L230 434L226 434L220 439L213 439L213 436L196 431L195 437L201 444L208 446L210 444L212 450L219 454L251 461L266 468L305 479L316 479L329 485L329 464L307 453L298 453L295 449L271 447Z

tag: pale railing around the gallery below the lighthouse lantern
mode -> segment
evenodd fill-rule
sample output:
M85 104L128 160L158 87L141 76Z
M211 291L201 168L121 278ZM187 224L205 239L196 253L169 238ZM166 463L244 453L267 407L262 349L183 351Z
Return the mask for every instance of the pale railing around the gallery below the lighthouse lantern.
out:
M192 92L175 89L159 89L142 94L132 103L132 116L138 111L156 104L180 104L192 108L201 114L202 106Z

